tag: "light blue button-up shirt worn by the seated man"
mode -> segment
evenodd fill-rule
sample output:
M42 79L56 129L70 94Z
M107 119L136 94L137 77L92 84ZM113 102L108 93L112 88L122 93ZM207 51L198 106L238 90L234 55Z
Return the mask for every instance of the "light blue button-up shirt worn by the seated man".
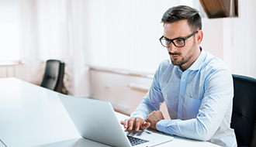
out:
M133 117L147 118L165 101L171 120L157 122L157 130L184 138L237 146L230 128L234 88L225 63L202 50L189 69L164 60Z

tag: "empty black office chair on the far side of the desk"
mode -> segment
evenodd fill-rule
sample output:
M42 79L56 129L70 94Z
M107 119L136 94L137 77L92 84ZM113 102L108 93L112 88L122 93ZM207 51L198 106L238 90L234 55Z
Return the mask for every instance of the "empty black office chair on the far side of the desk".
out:
M41 87L61 92L65 63L61 60L47 60Z

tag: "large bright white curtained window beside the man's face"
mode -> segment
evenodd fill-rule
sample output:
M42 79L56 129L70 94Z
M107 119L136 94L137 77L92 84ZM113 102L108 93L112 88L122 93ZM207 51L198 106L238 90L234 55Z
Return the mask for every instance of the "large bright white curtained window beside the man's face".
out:
M168 59L159 42L163 35L161 17L171 6L180 4L179 0L87 1L86 63L154 73L161 60Z

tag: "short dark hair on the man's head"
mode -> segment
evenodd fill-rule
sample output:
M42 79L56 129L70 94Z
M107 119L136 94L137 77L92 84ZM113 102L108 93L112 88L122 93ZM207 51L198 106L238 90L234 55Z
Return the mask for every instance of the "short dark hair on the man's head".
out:
M199 11L187 5L171 7L164 12L161 22L173 23L180 20L187 20L192 32L202 29L202 20Z

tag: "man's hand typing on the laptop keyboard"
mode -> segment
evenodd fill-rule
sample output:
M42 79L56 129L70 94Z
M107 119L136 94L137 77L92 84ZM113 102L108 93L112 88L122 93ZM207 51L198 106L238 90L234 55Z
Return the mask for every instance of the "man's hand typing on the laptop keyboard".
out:
M130 118L126 119L124 121L120 121L121 125L124 126L124 128L128 128L128 130L133 130L135 128L136 131L139 131L139 129L144 129L150 126L149 122L144 121L142 118Z

